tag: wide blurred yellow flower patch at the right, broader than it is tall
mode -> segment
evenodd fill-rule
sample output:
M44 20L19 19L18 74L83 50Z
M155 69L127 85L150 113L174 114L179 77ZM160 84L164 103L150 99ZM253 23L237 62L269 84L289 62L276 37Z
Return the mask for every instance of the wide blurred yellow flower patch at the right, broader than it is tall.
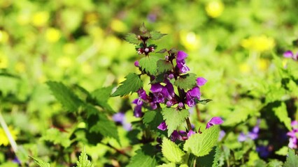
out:
M265 35L251 36L241 41L241 46L254 51L267 51L274 48L274 39Z

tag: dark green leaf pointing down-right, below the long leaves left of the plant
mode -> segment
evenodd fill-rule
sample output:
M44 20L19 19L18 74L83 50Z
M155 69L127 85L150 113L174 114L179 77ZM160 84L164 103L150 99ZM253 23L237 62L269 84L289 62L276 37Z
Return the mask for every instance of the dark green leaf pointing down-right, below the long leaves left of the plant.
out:
M86 109L87 112L94 112L94 110L97 110L93 106L87 106ZM99 132L105 137L115 138L118 141L118 143L120 143L118 130L115 125L115 122L109 120L104 113L98 112L98 117L99 120L97 120L96 124L90 127L90 132Z

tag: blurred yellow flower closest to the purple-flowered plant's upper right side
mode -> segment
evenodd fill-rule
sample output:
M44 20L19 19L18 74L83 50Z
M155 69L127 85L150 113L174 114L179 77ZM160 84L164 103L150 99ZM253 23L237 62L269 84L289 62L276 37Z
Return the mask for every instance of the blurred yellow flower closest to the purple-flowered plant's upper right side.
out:
M180 31L181 45L183 45L187 50L198 49L201 45L199 37L194 32Z

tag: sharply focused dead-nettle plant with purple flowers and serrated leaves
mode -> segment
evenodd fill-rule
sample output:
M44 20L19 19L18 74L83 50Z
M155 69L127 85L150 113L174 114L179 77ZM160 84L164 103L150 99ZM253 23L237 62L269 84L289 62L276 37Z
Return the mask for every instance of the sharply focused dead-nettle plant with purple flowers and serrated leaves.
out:
M160 124L155 128L161 131L167 130L171 141L185 141L192 134L200 133L192 127L190 112L187 109L211 101L201 100L201 86L204 86L207 80L190 72L186 63L188 55L185 51L176 49L156 51L157 45L149 43L166 34L148 31L144 25L141 26L140 31L140 35L129 33L125 38L136 45L139 58L134 62L134 66L140 73L129 73L113 96L137 93L138 97L132 102L134 116L143 118L145 124L160 120ZM143 87L141 79L143 75L150 79L148 89ZM155 116L156 120L151 121L152 118L148 115ZM213 125L220 125L222 122L221 118L214 117L207 123L206 129ZM186 126L183 126L183 123L186 123ZM179 127L186 127L186 129L180 130Z

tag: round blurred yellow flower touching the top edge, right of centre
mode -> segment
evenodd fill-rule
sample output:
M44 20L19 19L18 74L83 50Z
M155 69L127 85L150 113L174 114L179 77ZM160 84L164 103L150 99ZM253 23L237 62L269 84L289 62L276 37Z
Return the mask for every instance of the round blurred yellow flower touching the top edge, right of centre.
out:
M222 1L210 1L207 3L205 10L210 17L219 17L222 15L225 6Z

